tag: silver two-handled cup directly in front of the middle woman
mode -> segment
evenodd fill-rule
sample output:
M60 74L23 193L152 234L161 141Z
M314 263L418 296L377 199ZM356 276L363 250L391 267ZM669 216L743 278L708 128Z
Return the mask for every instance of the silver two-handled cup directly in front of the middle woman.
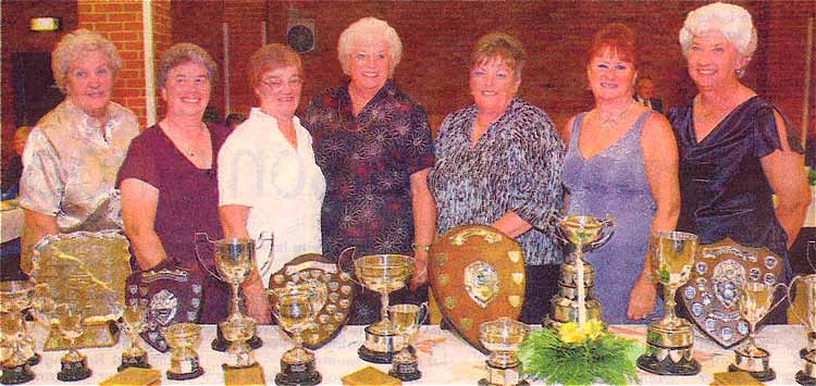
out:
M342 264L338 261L338 264ZM381 319L366 326L366 343L357 351L360 359L372 363L391 363L396 352L399 332L388 320L388 294L405 287L413 269L413 258L405 254L370 254L354 260L357 281L380 292Z

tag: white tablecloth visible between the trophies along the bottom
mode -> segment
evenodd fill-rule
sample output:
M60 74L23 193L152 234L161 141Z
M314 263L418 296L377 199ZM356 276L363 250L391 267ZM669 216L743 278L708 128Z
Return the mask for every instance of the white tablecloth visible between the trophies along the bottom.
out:
M610 327L616 333L645 341L644 325L621 325ZM215 335L213 325L202 328L201 345L198 349L205 374L191 381L170 381L162 377L162 385L223 385L224 375L221 363L227 361L226 353L210 349L210 341ZM263 366L267 384L274 385L274 376L280 371L281 354L292 347L292 341L284 338L275 326L260 326L259 335L263 339L263 347L256 351L256 357ZM45 331L38 331L39 338L45 337ZM41 340L41 339L40 339ZM322 385L341 385L341 377L367 365L373 365L387 372L387 364L371 364L357 357L357 348L363 341L362 326L346 326L341 334L326 346L316 351L317 369L323 375ZM703 371L691 377L657 376L639 372L642 385L708 385L714 381L714 373L726 371L733 360L731 350L719 348L716 344L697 335L695 332L695 351ZM799 350L805 347L804 328L801 325L770 325L765 326L757 337L759 346L771 352L770 365L777 372L777 378L771 385L799 385L794 381L795 373L802 369ZM39 349L38 343L38 349ZM129 343L123 336L120 343L110 348L83 349L88 357L88 364L94 375L87 379L64 385L97 385L102 379L116 372L122 349ZM146 345L147 346L147 345ZM148 347L150 364L153 369L164 371L170 364L170 353L161 353ZM486 375L485 357L470 347L467 343L448 331L442 331L436 325L422 326L417 345L419 368L422 378L406 385L475 385ZM33 368L36 378L26 385L62 384L57 381L60 368L60 357L65 351L40 352L42 360ZM532 382L533 385L544 385Z

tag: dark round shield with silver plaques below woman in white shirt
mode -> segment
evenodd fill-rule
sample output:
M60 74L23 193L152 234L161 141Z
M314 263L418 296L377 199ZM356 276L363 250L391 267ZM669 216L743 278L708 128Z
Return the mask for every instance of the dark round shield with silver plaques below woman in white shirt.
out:
M304 332L304 346L314 350L334 339L346 325L354 303L355 286L349 274L320 254L307 253L284 264L269 279L272 291L287 286L306 286L312 294L314 323Z

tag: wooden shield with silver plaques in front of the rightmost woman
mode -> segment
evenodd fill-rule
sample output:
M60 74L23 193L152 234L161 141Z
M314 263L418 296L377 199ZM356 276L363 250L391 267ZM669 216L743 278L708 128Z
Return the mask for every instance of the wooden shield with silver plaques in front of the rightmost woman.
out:
M700 246L691 277L678 292L697 329L730 348L749 334L737 304L740 284L775 284L781 278L782 265L782 259L767 248L745 247L726 238Z

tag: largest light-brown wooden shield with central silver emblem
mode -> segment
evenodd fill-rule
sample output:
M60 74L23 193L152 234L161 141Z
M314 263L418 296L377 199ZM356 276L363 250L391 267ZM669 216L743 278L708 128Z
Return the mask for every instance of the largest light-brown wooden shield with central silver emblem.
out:
M479 325L500 316L518 320L524 302L521 246L485 225L449 229L431 246L431 288L445 319L475 349Z

